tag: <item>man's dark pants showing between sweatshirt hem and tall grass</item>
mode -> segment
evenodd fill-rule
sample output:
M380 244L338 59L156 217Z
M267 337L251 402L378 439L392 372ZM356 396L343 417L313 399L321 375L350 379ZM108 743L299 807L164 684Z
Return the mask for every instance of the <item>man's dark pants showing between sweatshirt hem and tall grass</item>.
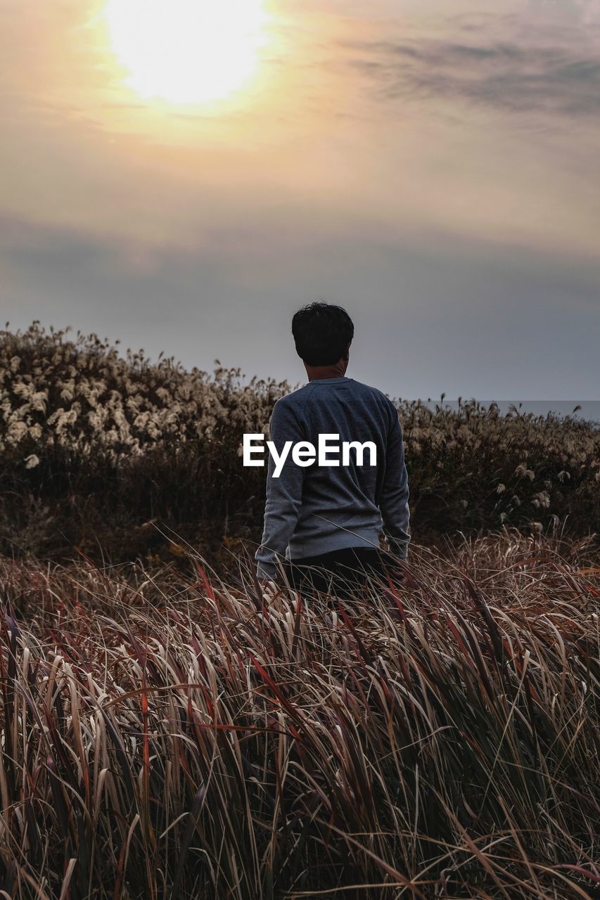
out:
M344 547L329 554L287 561L290 585L301 593L313 589L349 597L369 576L386 580L386 565L377 547Z

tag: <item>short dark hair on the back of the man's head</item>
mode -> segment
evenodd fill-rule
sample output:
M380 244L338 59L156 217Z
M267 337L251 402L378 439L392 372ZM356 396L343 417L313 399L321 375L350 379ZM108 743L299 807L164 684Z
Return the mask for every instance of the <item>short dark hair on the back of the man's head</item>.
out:
M332 365L341 360L354 337L354 325L341 306L314 302L295 313L292 334L306 365Z

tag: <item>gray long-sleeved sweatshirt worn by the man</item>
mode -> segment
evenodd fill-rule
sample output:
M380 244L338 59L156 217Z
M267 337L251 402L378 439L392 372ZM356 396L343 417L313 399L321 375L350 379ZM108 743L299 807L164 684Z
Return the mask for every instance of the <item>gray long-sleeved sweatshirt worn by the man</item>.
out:
M408 477L402 427L392 401L377 388L352 378L323 378L277 401L270 419L270 440L281 455L286 441L330 440L328 458L339 466L296 464L292 452L279 476L268 454L267 503L262 543L256 553L259 578L277 581L281 557L293 561L343 547L378 547L385 532L390 549L408 553ZM365 450L362 465L355 449L342 465L343 441L371 441L377 464ZM331 447L340 445L340 452ZM265 452L267 447L265 446Z

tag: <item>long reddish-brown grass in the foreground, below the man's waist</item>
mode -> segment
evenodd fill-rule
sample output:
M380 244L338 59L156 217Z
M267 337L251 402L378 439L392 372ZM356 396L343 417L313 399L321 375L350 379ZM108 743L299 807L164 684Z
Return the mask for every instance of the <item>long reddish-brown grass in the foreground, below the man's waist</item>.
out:
M348 606L186 563L0 563L2 896L597 896L589 539Z

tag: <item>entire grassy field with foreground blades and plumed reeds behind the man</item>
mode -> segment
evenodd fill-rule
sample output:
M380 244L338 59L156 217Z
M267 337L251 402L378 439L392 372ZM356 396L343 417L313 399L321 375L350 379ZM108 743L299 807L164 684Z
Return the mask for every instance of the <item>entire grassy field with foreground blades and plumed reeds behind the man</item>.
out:
M405 582L307 602L238 455L286 390L0 334L0 896L594 900L599 429L399 401Z

